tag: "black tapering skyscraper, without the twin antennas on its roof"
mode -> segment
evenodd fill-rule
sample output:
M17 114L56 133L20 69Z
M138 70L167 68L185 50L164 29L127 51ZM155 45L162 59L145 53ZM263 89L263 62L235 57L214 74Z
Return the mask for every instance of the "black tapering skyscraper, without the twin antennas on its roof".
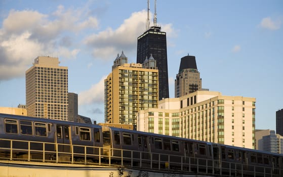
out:
M158 26L150 27L138 37L137 63L150 57L156 60L159 81L159 100L169 98L166 32Z

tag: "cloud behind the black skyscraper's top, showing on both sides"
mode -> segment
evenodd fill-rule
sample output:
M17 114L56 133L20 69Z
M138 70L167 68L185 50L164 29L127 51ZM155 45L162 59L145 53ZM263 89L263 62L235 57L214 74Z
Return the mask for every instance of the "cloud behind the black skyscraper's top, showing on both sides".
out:
M145 31L146 15L146 11L132 13L131 17L124 20L117 29L107 28L89 35L85 38L84 43L93 48L95 58L103 60L113 60L115 55L122 50L131 54L136 51L137 37ZM165 24L161 27L168 36L176 34L172 24Z

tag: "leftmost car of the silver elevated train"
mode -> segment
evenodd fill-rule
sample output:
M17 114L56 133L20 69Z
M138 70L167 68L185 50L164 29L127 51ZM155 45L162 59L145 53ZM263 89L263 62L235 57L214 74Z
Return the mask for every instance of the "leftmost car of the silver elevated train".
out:
M54 159L54 153L58 148L60 160L69 161L69 155L64 152L71 152L76 155L76 160L84 160L84 154L102 153L102 128L98 125L74 123L68 121L41 119L27 116L17 116L0 114L0 139L14 140L13 149L33 150L33 159L42 159L42 153L37 153L43 149L49 155L49 159ZM30 145L28 145L30 141ZM45 144L43 144L45 143ZM57 146L56 146L57 144ZM85 152L87 146L87 152ZM0 141L0 148L11 147L10 141ZM10 153L9 151L2 154ZM18 151L13 154L13 158L20 158L27 151ZM80 155L79 155L80 154ZM48 157L46 157L48 160Z

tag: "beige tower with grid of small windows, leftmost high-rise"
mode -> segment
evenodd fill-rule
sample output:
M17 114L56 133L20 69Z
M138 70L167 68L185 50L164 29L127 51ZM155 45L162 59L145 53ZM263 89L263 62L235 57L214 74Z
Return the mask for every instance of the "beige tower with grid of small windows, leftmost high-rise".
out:
M68 120L68 67L58 58L37 57L26 71L27 115Z

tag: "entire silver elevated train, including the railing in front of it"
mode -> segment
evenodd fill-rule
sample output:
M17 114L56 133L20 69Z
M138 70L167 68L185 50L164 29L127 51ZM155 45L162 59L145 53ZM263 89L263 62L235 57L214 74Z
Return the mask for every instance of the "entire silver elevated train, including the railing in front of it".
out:
M283 176L283 154L131 129L0 113L0 159L5 158L124 165L128 162L136 167L219 175L255 176L257 172L256 176Z

